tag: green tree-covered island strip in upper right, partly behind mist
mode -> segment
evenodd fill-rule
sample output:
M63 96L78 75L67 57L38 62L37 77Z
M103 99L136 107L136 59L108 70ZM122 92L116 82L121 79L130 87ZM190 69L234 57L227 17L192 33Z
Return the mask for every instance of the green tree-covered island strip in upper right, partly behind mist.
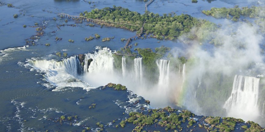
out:
M202 12L206 15L211 15L214 18L227 18L232 21L238 21L240 16L257 18L260 16L260 11L264 10L264 7L242 7L235 6L234 8L211 8L211 10L203 10Z

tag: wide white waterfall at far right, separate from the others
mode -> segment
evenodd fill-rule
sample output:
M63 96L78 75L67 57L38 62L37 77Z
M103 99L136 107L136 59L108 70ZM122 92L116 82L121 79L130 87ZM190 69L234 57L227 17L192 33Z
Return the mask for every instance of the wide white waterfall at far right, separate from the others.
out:
M259 115L258 95L260 79L250 76L235 75L231 96L225 102L224 107L228 116L245 118L249 120Z

